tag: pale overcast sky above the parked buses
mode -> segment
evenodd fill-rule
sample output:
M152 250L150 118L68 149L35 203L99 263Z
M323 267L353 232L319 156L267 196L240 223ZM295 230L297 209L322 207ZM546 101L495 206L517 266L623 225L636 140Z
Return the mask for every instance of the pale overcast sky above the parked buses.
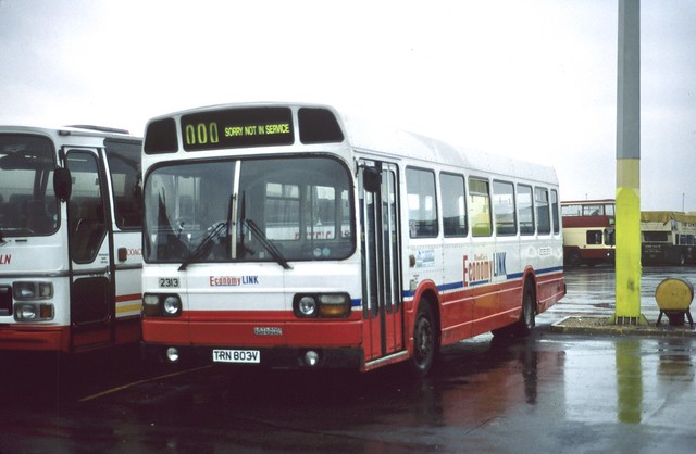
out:
M641 202L696 211L696 1L643 0ZM618 0L0 0L0 124L309 101L616 194Z

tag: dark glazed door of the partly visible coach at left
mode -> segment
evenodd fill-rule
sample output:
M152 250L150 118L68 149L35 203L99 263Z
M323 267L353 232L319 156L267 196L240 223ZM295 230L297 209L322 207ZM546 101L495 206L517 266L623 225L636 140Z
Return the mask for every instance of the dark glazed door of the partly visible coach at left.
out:
M92 149L71 149L66 165L73 180L67 201L71 348L112 341L110 248L103 175Z

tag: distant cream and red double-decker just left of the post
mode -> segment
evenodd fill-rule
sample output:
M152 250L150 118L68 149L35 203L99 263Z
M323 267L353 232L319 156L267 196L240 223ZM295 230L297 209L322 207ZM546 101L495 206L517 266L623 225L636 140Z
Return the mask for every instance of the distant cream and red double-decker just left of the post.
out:
M566 264L613 263L616 252L616 201L561 202Z

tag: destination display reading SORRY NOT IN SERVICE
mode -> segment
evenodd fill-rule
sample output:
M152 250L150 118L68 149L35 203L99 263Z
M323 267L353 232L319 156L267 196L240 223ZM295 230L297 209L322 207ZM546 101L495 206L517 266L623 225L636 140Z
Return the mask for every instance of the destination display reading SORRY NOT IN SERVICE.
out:
M288 108L248 108L182 116L184 150L271 147L295 141Z

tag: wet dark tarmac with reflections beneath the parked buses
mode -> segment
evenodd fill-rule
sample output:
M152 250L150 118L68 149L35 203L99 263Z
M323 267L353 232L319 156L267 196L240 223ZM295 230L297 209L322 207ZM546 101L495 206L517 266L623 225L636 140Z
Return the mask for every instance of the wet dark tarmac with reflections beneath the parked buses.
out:
M644 269L646 319L663 278L694 275ZM0 452L694 452L694 338L558 331L614 312L612 268L570 269L567 281L533 336L445 349L422 381L399 366L144 367L128 349L71 364L3 356Z

